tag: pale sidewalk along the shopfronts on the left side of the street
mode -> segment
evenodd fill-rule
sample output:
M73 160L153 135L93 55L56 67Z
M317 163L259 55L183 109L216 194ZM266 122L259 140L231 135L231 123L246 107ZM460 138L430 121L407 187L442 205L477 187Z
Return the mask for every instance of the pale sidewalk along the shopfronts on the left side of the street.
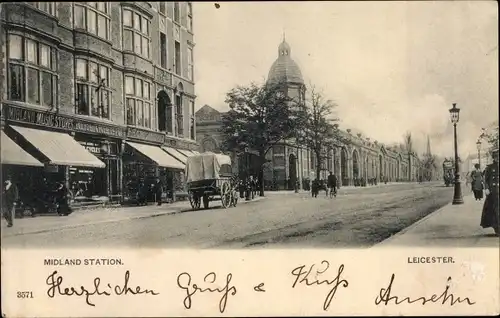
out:
M249 202L256 202L264 198L256 197L252 201L238 200L238 205ZM203 209L200 209L199 211L202 210ZM148 205L138 207L115 207L79 210L71 213L68 216L40 215L34 218L25 217L23 219L15 219L14 226L11 228L7 228L6 223L2 221L1 236L9 237L23 234L43 233L92 224L151 218L166 214L176 214L188 211L192 211L189 201L179 201L170 204L163 204L161 206Z

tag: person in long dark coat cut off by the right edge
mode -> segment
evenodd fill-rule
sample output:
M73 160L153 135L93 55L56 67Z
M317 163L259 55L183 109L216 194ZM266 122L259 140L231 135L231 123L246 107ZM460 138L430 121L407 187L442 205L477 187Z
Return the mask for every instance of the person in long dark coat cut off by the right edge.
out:
M486 190L486 199L484 200L483 213L481 215L481 227L495 230L500 234L500 216L498 208L498 145L492 151L493 163L485 169L484 186Z

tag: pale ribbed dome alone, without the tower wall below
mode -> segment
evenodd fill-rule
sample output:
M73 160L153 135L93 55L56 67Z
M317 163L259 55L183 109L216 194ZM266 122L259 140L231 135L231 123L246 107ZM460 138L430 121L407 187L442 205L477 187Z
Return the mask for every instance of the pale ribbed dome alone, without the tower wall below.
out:
M287 83L304 84L302 72L290 56L290 45L283 40L278 47L278 58L269 70L268 82L286 81Z

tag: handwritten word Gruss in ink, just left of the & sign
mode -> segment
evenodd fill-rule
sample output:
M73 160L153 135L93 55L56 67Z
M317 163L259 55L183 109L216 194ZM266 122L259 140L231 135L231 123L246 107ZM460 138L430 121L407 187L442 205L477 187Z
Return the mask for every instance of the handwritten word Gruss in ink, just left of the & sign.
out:
M177 276L177 286L179 288L183 289L186 291L186 297L184 298L184 307L186 309L191 308L191 296L193 296L196 292L200 293L220 293L222 294L222 297L219 301L219 311L223 313L226 310L226 305L227 305L227 299L229 296L234 296L236 295L236 287L231 285L231 279L233 278L233 274L229 273L226 276L226 282L224 287L222 288L210 288L210 287L205 287L201 288L197 284L191 284L191 275L189 273L183 272ZM208 284L214 284L215 281L217 280L217 275L214 272L210 272L205 277L203 278L204 283Z

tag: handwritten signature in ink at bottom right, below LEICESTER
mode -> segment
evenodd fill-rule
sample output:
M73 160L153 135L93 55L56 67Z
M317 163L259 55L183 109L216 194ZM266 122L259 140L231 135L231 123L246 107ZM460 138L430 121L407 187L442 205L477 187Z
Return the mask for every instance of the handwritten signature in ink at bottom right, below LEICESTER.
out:
M391 276L391 281L389 282L389 286L387 288L381 288L379 295L375 298L375 304L380 305L388 305L391 301L394 302L394 304L399 305L401 303L408 303L408 304L413 304L413 303L420 303L422 305L427 304L428 302L431 303L441 303L442 305L445 305L448 303L450 306L455 305L456 303L463 303L465 302L467 305L472 306L475 304L475 302L471 301L469 297L465 297L464 299L460 297L456 297L452 294L449 293L450 289L450 282L451 282L451 277L448 277L446 281L446 288L443 291L441 295L436 295L433 294L431 297L426 298L425 296L420 296L415 299L410 299L410 297L404 297L402 299L399 299L398 296L391 296L392 292L392 283L394 282L394 278L396 277L395 274L392 274Z

